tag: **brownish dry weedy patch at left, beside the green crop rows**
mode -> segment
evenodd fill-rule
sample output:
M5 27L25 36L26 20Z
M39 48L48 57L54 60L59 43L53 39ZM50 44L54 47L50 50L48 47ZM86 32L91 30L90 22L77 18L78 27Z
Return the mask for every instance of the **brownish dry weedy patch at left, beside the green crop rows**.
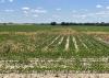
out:
M19 53L19 52L35 52L35 45L34 44L24 44L21 42L16 42L13 40L8 40L8 41L3 41L2 43L0 43L0 52L1 53Z

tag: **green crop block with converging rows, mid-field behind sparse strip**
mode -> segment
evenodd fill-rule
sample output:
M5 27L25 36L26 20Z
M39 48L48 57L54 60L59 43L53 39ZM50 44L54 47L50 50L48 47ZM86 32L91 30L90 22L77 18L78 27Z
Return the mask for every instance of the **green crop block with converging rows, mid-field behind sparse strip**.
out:
M5 36L3 36L5 38ZM93 36L78 34L78 35L58 35L58 34L40 34L34 35L35 40L29 36L10 36L10 45L7 44L9 41L8 38L2 41L4 45L3 48L4 53L0 54L2 57L15 57L15 56L26 56L26 57L72 57L72 56L80 56L80 57L100 57L100 56L108 56L108 45L95 40ZM38 38L37 38L38 37ZM58 38L57 38L58 37ZM59 42L63 37L61 44ZM65 49L66 40L69 37L69 46ZM36 40L37 38L37 40ZM57 40L56 40L57 38ZM73 41L72 38L75 38ZM17 42L20 45L17 45ZM78 48L76 52L75 47ZM8 45L8 46L7 46ZM17 47L17 51L12 49L13 45ZM1 47L1 46L0 46ZM20 48L19 48L20 47ZM17 57L15 57L17 58Z

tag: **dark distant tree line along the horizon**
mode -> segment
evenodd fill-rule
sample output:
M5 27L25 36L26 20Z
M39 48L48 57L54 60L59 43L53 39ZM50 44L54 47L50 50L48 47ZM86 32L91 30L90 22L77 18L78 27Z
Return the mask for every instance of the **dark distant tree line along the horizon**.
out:
M88 26L109 26L109 23L105 22L97 22L97 23L76 23L76 22L50 22L50 23L0 23L0 25L15 25L15 24L21 24L21 25L62 25L62 26L69 26L69 25L88 25Z

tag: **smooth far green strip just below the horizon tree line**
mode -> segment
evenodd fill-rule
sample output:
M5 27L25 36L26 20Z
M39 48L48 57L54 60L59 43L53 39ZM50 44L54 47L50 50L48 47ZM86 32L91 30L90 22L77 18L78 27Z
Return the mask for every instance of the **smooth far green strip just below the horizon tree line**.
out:
M61 25L0 25L0 32L36 32L36 31L60 31L61 29L72 29L77 32L108 32L109 26L88 26L88 25L71 25L71 26L61 26Z

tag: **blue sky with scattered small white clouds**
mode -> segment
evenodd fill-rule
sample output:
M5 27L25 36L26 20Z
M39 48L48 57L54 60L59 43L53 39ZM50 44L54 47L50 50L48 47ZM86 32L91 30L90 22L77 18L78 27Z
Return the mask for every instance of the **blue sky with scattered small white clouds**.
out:
M0 0L0 22L109 22L109 0Z

